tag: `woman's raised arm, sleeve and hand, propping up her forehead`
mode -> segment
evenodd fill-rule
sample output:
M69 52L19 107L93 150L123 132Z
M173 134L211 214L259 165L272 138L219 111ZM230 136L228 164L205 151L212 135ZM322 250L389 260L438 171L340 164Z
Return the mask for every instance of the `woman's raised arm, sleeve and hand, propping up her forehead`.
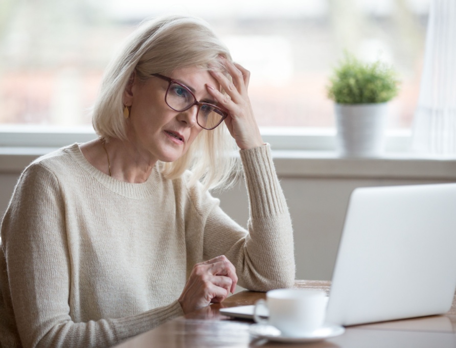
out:
M247 185L250 218L248 235L219 207L208 218L204 250L223 252L236 266L239 284L252 290L292 286L294 281L293 231L269 145L263 144L250 104L250 73L239 64L221 58L229 81L211 72L226 92L208 86L211 95L230 113L225 124L239 146ZM209 251L211 250L211 251Z

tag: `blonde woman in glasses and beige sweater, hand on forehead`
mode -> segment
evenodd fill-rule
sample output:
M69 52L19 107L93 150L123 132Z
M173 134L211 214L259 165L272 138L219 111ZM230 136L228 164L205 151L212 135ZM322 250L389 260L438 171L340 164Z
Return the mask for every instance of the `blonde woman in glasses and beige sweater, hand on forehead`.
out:
M2 222L2 347L107 347L237 283L292 285L290 217L248 80L199 19L133 34L103 78L99 139L37 159L16 185ZM207 190L232 173L230 134L248 233Z

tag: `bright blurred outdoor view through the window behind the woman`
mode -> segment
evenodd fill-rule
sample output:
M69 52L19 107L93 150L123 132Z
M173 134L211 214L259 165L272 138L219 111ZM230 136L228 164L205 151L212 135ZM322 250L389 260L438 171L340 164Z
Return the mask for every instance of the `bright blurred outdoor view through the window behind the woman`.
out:
M326 97L344 50L400 73L390 129L409 129L422 70L429 0L0 0L2 125L90 125L104 68L140 21L162 14L208 21L252 73L261 127L333 127Z

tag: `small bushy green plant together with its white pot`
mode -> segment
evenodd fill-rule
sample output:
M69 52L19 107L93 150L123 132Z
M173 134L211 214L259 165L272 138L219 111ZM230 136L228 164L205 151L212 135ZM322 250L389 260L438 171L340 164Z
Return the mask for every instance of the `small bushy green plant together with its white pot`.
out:
M395 69L346 54L334 68L328 97L335 102L336 144L341 156L378 157L384 148L387 103L398 94Z

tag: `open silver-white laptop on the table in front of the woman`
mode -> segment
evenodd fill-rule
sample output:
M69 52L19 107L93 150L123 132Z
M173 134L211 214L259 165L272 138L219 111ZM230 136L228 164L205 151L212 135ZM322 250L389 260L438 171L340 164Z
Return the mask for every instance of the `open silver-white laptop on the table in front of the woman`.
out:
M327 322L351 326L443 314L455 290L456 183L352 192ZM252 317L253 306L220 310L238 311Z

